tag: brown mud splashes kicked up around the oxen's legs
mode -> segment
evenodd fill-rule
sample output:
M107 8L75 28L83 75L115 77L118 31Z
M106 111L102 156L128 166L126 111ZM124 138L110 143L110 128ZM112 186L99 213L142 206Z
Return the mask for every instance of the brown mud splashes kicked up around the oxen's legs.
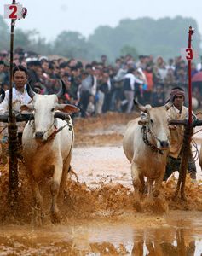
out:
M19 211L20 223L30 223L32 221L32 192L26 180L25 170L20 169L19 187ZM79 177L79 176L78 176ZM41 183L43 201L45 204L47 218L49 219L50 193L49 182L47 179ZM0 178L0 219L2 222L5 216L9 216L7 206L8 193L8 169L3 170ZM173 201L176 189L176 179L171 178L169 182L163 183L161 195L158 198L141 198L141 212L164 214L169 210L202 210L202 186L200 183L191 183L188 178L185 192L187 201ZM88 218L112 218L118 216L130 216L139 212L140 209L134 204L135 198L133 189L125 187L120 183L107 182L102 178L96 187L90 187L86 183L79 183L74 177L69 177L66 183L65 197L61 205L62 223L68 223L70 219ZM16 217L17 218L17 217ZM9 219L7 220L9 221Z

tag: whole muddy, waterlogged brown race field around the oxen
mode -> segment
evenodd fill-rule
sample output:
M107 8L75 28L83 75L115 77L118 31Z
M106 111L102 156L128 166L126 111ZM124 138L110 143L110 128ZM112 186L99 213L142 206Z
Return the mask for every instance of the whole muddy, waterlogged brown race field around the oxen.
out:
M61 224L49 218L49 180L42 183L46 224L32 224L32 194L20 164L19 211L7 207L8 166L0 166L0 255L200 255L202 187L188 178L187 201L173 201L176 177L158 199L134 205L130 163L122 148L130 115L107 113L75 120L72 169L61 205ZM201 134L200 134L201 133ZM200 144L202 131L197 133Z

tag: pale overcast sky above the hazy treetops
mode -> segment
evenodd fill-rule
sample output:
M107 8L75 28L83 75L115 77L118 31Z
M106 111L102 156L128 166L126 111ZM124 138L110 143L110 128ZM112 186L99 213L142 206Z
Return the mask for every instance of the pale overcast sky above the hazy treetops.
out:
M12 1L0 0L1 15L6 3ZM89 36L97 26L117 26L124 18L145 16L154 19L176 15L192 17L202 34L202 0L20 0L20 3L28 9L28 15L26 20L17 22L17 27L36 28L43 37L51 40L63 30Z

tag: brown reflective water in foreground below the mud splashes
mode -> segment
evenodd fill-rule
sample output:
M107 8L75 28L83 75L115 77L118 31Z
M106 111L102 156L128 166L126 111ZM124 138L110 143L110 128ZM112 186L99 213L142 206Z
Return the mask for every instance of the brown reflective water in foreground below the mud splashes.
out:
M14 226L0 231L0 255L198 256L201 239L200 231L169 225L145 230L105 222L38 230Z

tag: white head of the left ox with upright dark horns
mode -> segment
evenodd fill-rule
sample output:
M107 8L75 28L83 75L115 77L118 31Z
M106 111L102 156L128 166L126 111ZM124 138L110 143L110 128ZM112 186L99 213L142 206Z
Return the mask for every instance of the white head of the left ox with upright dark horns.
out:
M59 104L58 100L65 92L65 84L61 81L61 90L54 95L38 95L27 84L27 92L32 97L32 103L22 105L21 111L30 112L34 116L33 137L39 141L46 141L55 131L55 111L68 114L77 113L79 108L70 104Z

